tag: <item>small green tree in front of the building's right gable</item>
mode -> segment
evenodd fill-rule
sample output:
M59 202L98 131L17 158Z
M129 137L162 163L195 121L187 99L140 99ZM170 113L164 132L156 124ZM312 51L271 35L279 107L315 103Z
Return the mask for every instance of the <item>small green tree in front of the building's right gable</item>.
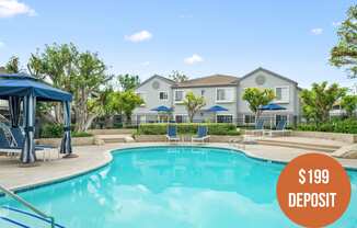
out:
M247 102L250 110L255 113L255 121L261 116L261 106L268 104L275 99L272 89L261 90L258 88L247 88L244 90L243 100Z

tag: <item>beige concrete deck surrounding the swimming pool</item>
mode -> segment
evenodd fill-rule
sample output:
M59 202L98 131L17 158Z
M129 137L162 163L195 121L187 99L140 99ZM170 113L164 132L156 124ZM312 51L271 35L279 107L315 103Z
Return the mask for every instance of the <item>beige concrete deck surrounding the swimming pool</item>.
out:
M111 162L111 150L124 149L142 146L168 146L182 145L189 146L192 144L165 144L165 142L133 142L133 144L106 144L103 146L82 146L73 147L74 153L78 158L72 159L57 159L57 155L53 153L54 160L42 162L41 166L20 168L18 159L0 156L0 184L11 189L21 190L34 187L37 185L60 181L73 175L82 174L96 168L103 167ZM254 158L273 160L279 162L288 162L297 156L308 151L298 148L265 146L265 145L246 145L245 149L240 149L228 144L195 144L199 146L221 147L228 149L244 150L244 152ZM324 152L321 152L324 153ZM329 153L325 153L329 155ZM42 158L38 155L38 158ZM344 167L357 169L357 159L337 159Z

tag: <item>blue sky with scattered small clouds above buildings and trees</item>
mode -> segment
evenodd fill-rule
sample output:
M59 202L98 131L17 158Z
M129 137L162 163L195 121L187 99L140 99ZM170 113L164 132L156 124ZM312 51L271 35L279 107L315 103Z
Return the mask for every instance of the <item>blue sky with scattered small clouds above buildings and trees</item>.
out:
M0 0L0 65L45 44L97 52L113 73L180 70L192 78L264 67L309 87L355 83L329 65L336 24L354 1Z

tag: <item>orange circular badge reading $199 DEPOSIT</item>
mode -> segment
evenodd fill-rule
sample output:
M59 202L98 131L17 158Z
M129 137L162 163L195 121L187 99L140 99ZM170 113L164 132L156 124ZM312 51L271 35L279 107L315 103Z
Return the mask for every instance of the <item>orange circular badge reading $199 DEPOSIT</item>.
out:
M349 178L332 157L299 156L283 170L277 183L280 208L293 223L324 227L337 220L350 200Z

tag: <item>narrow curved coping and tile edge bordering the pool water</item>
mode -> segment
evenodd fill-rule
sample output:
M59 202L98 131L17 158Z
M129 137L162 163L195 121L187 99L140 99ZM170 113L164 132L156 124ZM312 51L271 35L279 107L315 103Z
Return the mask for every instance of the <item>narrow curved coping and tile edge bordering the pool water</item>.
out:
M122 146L122 145L120 145ZM95 167L91 167L89 169L85 170L81 170L71 174L65 174L60 178L54 178L54 179L49 179L49 180L44 180L44 181L39 181L35 184L22 184L22 185L18 185L18 186L13 186L10 187L11 191L13 191L14 193L22 193L22 192L27 192L31 190L35 190L35 189L39 189L43 186L47 186L47 185L51 185L51 184L56 184L56 183L60 183L60 182L65 182L65 181L69 181L71 179L76 179L78 176L81 175L85 175L88 173L91 172L95 172L102 168L107 167L112 161L113 161L113 155L114 153L119 153L122 150L126 150L126 149L139 149L142 147L197 147L197 148L216 148L216 149L227 149L227 150L231 150L234 152L239 152L243 156L245 156L246 158L256 160L256 161L261 161L261 162L269 162L269 163L277 163L277 164L287 164L289 161L286 160L278 160L278 159L269 159L269 158L264 158L261 156L255 155L254 152L250 152L243 148L238 148L238 147L233 147L231 145L227 145L227 144L168 144L168 142L150 142L147 145L123 145L119 148L112 148L112 149L106 149L105 151L103 151L104 153L104 159L102 162L100 162L100 164L95 166ZM333 157L332 157L333 158ZM334 158L336 159L336 158ZM338 161L338 159L336 159ZM338 161L339 162L339 161ZM346 166L343 164L342 162L339 162L345 170L347 171L356 171L357 172L357 167L350 167L350 166ZM0 197L4 196L4 193L0 193Z

